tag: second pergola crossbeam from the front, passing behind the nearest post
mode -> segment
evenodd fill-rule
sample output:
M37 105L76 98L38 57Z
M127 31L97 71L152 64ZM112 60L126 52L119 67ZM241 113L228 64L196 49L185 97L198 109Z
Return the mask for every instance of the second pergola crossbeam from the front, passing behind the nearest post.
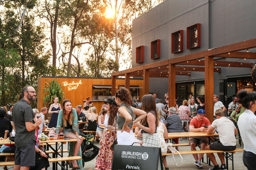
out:
M213 66L224 66L224 67L253 67L253 63L242 63L242 62L231 62L231 61L213 61ZM190 62L183 62L179 63L181 65L203 65L204 66L204 60L194 60ZM228 65L230 64L230 66Z

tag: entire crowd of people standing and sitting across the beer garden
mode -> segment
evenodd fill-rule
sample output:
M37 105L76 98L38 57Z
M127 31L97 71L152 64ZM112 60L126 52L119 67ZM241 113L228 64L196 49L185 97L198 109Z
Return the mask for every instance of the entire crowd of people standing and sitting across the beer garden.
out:
M167 146L164 137L168 133L176 132L206 132L213 134L217 130L220 140L207 145L206 137L190 137L189 145L191 151L196 150L200 145L201 150L233 151L236 149L235 135L238 133L236 126L230 119L224 116L225 106L219 101L218 95L213 96L214 121L211 122L205 117L204 96L189 95L188 100L183 100L179 107L177 103L169 107L168 93L164 95L164 102L158 99L156 93L144 95L142 99L137 96L133 100L130 91L120 88L115 96L105 101L105 104L97 112L90 97L86 98L84 109L82 105L72 107L70 100L64 100L62 106L57 97L53 98L49 114L52 114L50 122L44 119L47 108L41 108L41 112L32 109L30 103L35 101L36 92L32 86L22 89L19 101L13 106L10 105L9 112L6 107L0 108L0 133L1 137L15 137L15 145L3 145L1 153L15 152L16 169L45 169L49 167L47 155L38 136L47 127L55 129L54 139L58 139L61 133L67 138L77 139L77 142L70 143L70 156L82 156L81 144L83 137L79 129L84 129L84 123L79 120L88 121L86 130L96 131L99 136L100 150L95 163L95 169L111 169L113 150L111 145L131 145L140 142L142 146L159 147L162 154L167 153ZM196 100L197 103L196 104ZM256 92L240 90L232 102L228 105L228 116L237 122L241 137L244 142L243 162L248 169L253 169L256 161L255 137L256 125ZM38 118L36 114L41 114ZM182 121L188 120L189 127L183 126ZM104 127L105 128L102 128ZM133 132L133 127L136 127ZM137 134L135 138L134 133ZM179 143L179 139L173 139ZM35 148L35 149L33 149ZM202 167L201 159L204 154L193 154L195 165ZM213 163L211 170L227 169L223 154L218 153L221 165L217 164L215 156L207 153ZM41 159L38 159L40 157ZM6 161L13 160L7 157ZM165 170L168 170L166 159L163 160ZM73 160L70 164L73 169L83 169L82 160ZM7 167L4 167L7 169Z

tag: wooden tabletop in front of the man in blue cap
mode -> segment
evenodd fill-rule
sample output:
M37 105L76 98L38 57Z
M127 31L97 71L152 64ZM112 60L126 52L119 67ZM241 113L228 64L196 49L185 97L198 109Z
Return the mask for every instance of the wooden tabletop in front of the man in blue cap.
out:
M173 139L179 137L206 137L206 136L219 136L218 133L207 135L206 132L180 132L180 133L168 133L168 137L164 139ZM137 135L135 135L137 137Z

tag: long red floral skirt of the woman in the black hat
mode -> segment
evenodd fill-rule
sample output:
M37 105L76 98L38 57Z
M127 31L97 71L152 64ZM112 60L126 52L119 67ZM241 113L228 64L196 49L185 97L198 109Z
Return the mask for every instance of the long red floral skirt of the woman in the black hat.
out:
M110 133L105 132L95 164L96 170L111 170L113 151L110 147L116 138L114 135L115 131L110 131Z

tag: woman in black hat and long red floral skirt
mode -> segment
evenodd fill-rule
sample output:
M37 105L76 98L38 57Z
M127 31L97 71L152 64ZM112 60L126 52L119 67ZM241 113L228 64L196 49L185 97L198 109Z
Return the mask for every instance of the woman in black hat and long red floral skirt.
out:
M107 115L105 116L103 137L100 138L100 150L96 160L96 170L111 170L113 151L110 149L116 139L117 104L114 99L108 98L106 103Z

